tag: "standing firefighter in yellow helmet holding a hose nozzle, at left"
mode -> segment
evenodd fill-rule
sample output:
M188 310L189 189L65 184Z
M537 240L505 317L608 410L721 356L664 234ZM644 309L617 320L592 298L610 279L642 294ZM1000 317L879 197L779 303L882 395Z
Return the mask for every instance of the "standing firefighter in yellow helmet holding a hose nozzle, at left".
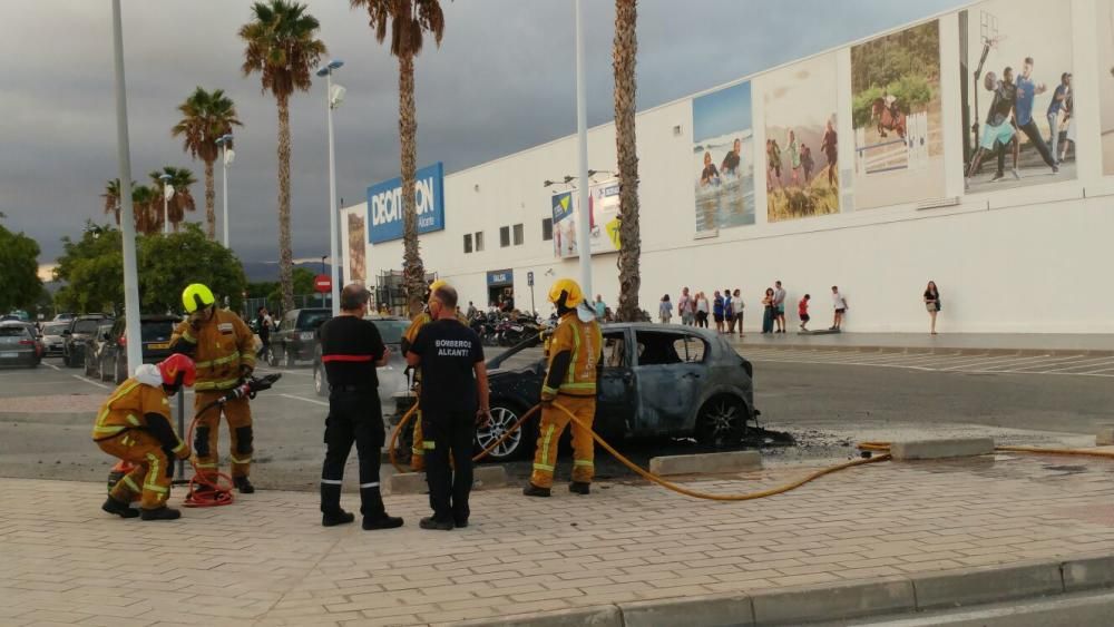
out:
M194 359L197 368L194 408L201 410L252 375L255 370L255 339L238 315L217 308L213 292L201 283L194 283L182 292L182 304L189 317L174 330L170 350ZM217 430L222 406L228 422L232 481L240 493L251 494L255 488L247 476L254 449L252 408L246 398L214 406L197 417L194 451L203 480L202 489L212 489L217 480Z

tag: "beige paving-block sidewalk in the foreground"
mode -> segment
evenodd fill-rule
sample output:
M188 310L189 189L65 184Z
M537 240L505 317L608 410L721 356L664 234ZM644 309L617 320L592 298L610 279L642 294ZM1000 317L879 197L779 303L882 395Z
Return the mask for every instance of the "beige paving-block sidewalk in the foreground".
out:
M453 532L418 529L423 496L389 497L407 526L365 532L320 527L304 492L176 522L104 515L97 483L0 479L0 624L16 626L448 624L1114 550L1114 462L1046 455L869 464L735 503L646 484L481 491Z

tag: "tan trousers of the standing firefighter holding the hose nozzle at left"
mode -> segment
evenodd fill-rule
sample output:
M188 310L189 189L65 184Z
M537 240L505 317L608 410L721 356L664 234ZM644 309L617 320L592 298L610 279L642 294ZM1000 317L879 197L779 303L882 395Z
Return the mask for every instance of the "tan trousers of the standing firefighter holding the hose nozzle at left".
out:
M227 392L197 392L194 410L224 396ZM197 419L194 431L194 452L197 454L197 470L209 480L216 481L216 472L221 467L221 455L217 453L217 432L221 427L221 405L206 411ZM247 477L252 467L252 408L247 399L228 401L224 405L224 418L228 422L228 459L232 462L232 478Z

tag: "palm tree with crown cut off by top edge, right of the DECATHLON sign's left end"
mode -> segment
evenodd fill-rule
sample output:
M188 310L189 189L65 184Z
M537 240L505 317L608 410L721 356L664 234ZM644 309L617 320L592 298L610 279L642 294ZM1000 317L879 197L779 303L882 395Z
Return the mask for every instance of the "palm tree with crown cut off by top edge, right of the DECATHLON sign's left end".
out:
M391 55L399 59L399 136L402 141L402 267L410 314L421 310L426 295L426 268L418 249L418 214L414 202L418 119L414 110L414 57L421 52L424 33L440 46L444 14L438 0L351 0L352 8L365 7L375 40L387 39L391 27Z

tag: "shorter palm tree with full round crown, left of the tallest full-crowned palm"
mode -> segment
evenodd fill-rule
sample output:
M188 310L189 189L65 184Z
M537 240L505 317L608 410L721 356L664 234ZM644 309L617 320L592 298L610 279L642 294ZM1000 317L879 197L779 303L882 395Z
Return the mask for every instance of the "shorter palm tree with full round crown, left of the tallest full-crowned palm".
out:
M178 105L182 120L174 125L170 135L183 137L182 149L205 161L205 223L209 239L216 238L216 186L213 180L213 161L219 156L217 138L232 133L233 126L243 126L236 118L236 105L223 89L205 91L201 87ZM192 198L190 198L192 200ZM193 209L190 209L193 210Z

